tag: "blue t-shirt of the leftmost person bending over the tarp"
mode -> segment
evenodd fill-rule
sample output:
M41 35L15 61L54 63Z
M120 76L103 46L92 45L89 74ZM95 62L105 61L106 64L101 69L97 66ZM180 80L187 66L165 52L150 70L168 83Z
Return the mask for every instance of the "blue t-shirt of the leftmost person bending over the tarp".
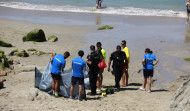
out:
M61 68L65 68L65 58L63 55L56 55L52 58L53 63L52 63L52 68L51 68L51 73L53 74L60 74L61 73Z

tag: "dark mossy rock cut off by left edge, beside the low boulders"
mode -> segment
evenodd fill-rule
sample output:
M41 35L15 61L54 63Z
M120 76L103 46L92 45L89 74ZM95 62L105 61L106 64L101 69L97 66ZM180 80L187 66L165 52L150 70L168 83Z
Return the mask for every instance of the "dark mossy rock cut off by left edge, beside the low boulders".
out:
M6 58L6 55L4 55L4 52L0 52L0 67L2 69L4 68L9 68L9 62L8 59Z

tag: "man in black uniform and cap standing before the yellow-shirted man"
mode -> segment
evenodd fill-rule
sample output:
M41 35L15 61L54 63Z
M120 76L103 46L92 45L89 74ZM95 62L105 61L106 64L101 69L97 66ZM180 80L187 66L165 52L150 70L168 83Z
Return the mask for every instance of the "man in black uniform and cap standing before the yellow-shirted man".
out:
M113 61L113 75L115 76L115 88L117 88L116 91L120 91L120 85L119 82L121 80L121 77L123 75L123 67L125 66L124 60L127 61L127 57L125 52L121 51L121 46L118 45L116 47L116 51L114 51L111 54L110 60L108 62L108 72L110 71L110 65Z

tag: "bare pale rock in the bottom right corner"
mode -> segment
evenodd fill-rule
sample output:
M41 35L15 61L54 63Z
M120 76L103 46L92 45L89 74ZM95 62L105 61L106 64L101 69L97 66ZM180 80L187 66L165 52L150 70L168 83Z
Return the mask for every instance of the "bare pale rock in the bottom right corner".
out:
M173 95L169 111L190 111L190 79Z

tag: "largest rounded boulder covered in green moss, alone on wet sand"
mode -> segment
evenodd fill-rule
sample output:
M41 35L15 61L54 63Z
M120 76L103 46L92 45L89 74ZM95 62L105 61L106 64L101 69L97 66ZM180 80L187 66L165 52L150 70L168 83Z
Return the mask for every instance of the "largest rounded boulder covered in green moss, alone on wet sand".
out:
M26 41L44 42L46 41L46 37L42 29L34 29L30 31L26 36L24 36L22 40L23 42Z

